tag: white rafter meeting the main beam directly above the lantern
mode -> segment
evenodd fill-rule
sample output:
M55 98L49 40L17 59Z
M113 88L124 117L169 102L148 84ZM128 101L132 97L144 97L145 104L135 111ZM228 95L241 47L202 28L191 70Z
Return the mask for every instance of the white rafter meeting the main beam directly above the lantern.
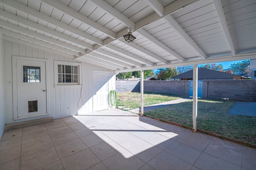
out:
M131 27L135 29L135 23L132 22L129 18L124 16L124 14L120 13L118 10L113 8L110 4L105 2L104 0L90 0L90 2L94 3L96 6L98 6L100 9L104 10L106 13L111 15L113 18L118 19L120 22L122 22L127 27Z

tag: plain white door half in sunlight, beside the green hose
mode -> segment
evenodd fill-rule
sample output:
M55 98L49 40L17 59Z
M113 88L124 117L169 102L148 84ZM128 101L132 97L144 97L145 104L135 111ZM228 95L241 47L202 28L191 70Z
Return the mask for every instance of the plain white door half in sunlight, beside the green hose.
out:
M108 71L93 71L93 111L108 109Z

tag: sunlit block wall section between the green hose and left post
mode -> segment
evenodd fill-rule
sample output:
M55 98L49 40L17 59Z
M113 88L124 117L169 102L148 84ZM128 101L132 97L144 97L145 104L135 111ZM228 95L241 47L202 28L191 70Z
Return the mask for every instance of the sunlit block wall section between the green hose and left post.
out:
M144 81L145 82L145 81ZM139 92L140 81L116 81L116 92Z

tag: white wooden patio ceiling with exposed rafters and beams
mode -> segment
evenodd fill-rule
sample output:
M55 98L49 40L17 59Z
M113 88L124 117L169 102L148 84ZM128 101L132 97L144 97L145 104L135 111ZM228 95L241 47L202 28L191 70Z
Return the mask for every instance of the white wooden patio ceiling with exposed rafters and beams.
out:
M0 0L0 32L116 72L256 59L256 1Z

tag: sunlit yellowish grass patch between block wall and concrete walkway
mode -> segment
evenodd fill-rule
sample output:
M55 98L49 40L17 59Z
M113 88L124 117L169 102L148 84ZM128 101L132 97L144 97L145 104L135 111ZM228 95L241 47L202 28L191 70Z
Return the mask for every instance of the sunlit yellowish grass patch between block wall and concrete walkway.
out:
M181 99L181 97L178 97L176 95L170 95L165 93L150 93L150 92L144 92L143 97L144 97L144 106ZM117 93L116 106L129 107L131 109L139 108L140 93L131 93L131 92Z

